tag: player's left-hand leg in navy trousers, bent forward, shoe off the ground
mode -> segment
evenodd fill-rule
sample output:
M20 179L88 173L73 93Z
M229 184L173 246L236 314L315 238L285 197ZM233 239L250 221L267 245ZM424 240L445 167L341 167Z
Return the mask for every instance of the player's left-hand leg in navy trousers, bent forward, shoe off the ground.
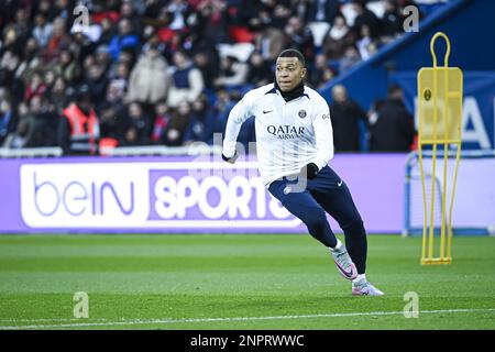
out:
M293 184L295 182L276 180L270 186L270 193L307 226L315 239L331 250L340 274L348 279L354 279L358 276L355 265L332 232L324 209L307 189L297 190Z

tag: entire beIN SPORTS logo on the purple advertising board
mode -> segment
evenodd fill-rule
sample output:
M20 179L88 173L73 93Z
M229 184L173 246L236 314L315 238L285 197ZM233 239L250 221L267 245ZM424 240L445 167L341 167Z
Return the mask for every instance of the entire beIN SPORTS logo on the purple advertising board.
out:
M221 167L194 175L191 165L25 164L22 218L32 228L220 229L231 227L232 220L246 228L300 224L270 196L260 177L226 175Z

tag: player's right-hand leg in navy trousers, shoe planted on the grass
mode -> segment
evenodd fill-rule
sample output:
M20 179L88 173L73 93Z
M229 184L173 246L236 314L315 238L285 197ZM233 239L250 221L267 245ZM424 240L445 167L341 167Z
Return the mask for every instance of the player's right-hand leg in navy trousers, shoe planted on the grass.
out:
M318 204L337 220L344 232L345 246L359 274L353 280L353 294L359 294L354 286L363 286L363 293L360 288L360 294L383 295L366 280L366 230L345 183L336 172L326 166L317 178L308 183L308 189Z

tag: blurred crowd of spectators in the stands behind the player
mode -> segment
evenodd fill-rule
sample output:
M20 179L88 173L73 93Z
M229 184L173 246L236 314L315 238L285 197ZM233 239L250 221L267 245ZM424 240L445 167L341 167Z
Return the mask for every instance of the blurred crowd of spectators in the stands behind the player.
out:
M0 1L0 146L98 154L211 144L242 94L273 81L283 48L305 55L307 85L320 88L394 40L414 2L383 2L377 16L355 0ZM341 11L349 3L352 26ZM326 24L320 40L315 23ZM245 43L245 59L232 54ZM332 116L352 117L344 121L369 125L381 111L349 105L344 87L332 95ZM403 113L396 100L388 114ZM336 148L358 151L358 136L348 138L358 124L345 123L334 122ZM240 140L253 138L246 123Z

